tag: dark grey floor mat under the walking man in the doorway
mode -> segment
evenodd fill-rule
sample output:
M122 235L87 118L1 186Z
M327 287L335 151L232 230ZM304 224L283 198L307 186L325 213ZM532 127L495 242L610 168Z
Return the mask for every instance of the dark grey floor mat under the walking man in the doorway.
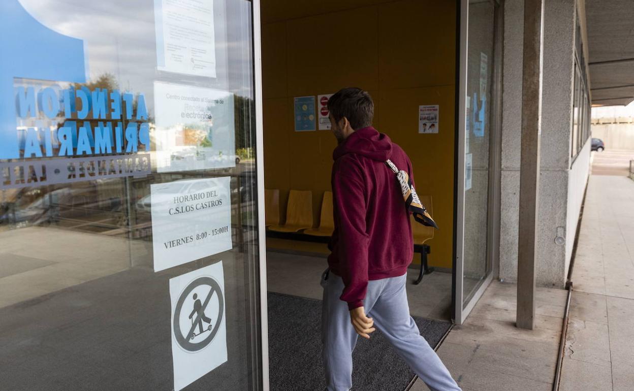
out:
M321 300L269 292L269 371L272 391L325 389L321 363ZM414 317L436 346L451 323ZM353 354L353 390L402 391L414 373L380 331L359 338Z

